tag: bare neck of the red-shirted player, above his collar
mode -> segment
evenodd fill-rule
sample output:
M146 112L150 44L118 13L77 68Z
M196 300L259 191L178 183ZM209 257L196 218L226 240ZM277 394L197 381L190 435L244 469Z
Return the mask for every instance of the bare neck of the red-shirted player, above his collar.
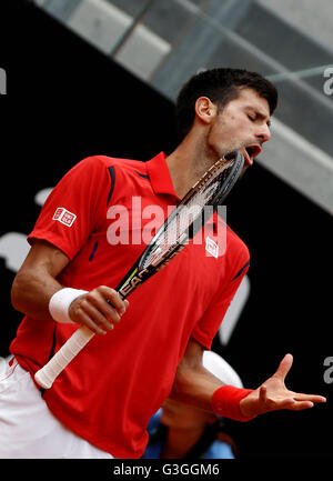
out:
M167 158L176 196L182 199L216 160L216 156L205 151L200 136L188 136Z

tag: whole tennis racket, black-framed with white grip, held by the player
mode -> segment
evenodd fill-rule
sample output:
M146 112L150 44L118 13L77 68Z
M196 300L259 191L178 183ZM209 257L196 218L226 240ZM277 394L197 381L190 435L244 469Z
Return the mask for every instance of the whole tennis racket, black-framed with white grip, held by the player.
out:
M219 159L195 182L115 288L122 299L167 265L193 239L203 227L204 208L211 206L216 210L222 204L240 177L243 164L243 156L231 152ZM80 327L50 361L37 371L34 379L38 384L44 389L51 388L62 370L93 335L94 332L85 325Z

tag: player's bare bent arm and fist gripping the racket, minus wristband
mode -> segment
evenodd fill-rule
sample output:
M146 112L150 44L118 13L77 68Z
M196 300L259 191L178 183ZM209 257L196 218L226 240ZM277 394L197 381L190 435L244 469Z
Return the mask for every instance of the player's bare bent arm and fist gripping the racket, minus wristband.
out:
M68 257L56 247L41 241L33 243L12 285L13 308L33 319L64 322L63 315L61 320L51 317L49 303L52 295L63 288L57 279L68 262ZM78 297L69 304L68 298L58 299L58 308L68 322L87 325L97 334L113 329L129 305L107 285L99 285L84 294L78 290Z

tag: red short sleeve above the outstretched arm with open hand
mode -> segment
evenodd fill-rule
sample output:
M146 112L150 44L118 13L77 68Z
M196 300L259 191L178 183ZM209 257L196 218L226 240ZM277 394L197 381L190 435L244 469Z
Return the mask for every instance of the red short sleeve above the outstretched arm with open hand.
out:
M195 324L191 335L205 349L211 349L213 339L216 335L228 308L248 272L250 262L246 261L246 263L239 270L238 274L231 279L229 285L214 295L210 307Z

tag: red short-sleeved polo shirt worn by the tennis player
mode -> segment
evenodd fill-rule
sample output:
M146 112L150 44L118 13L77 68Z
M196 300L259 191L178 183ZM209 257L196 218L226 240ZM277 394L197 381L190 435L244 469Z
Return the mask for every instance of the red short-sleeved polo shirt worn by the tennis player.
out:
M163 153L149 162L91 157L53 189L29 242L43 239L69 257L63 285L114 288L178 202ZM115 329L95 335L44 392L49 409L114 457L140 458L189 338L210 349L248 267L248 248L215 216L203 242L194 238L134 291ZM11 352L33 375L75 329L24 317Z

